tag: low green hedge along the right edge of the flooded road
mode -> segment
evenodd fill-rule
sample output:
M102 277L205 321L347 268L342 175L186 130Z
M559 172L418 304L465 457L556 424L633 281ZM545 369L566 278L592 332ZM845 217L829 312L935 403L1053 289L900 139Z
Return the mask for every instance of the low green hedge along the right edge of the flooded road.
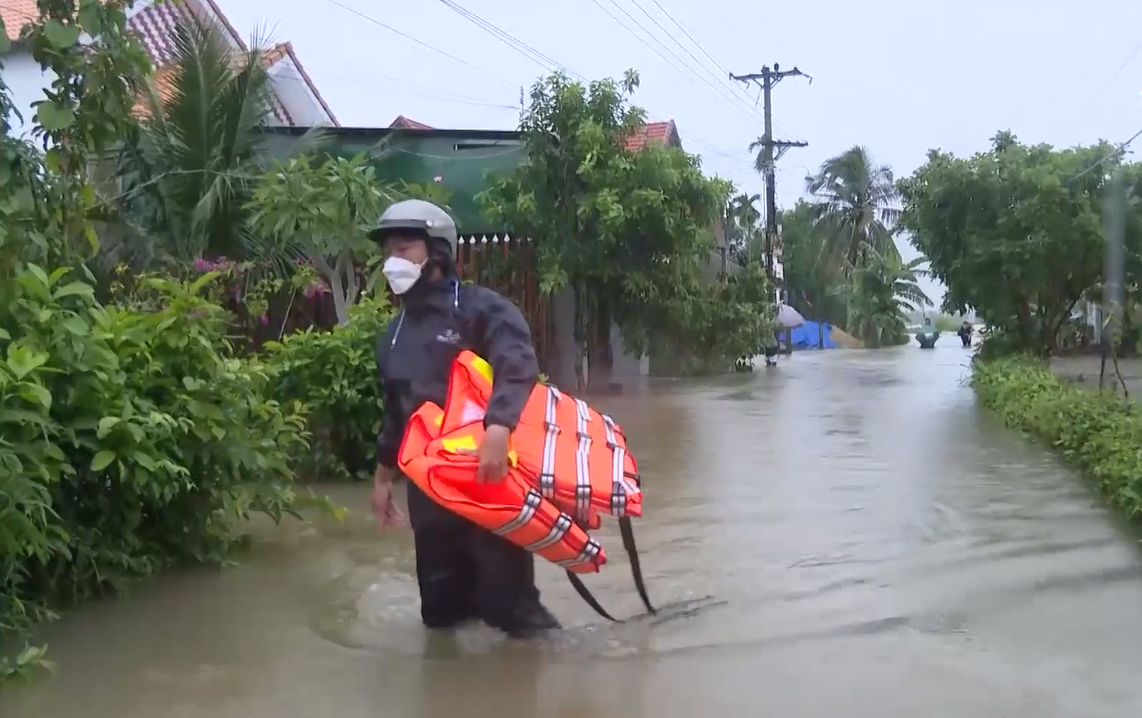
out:
M1080 389L1027 357L976 360L972 384L1007 426L1057 449L1127 516L1142 515L1142 414L1134 402Z

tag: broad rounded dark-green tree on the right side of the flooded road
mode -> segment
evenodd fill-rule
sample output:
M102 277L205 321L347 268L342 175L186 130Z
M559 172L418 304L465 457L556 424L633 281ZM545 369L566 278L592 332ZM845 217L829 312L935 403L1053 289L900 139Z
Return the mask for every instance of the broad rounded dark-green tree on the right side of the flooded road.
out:
M1115 148L1056 150L999 132L971 158L933 151L900 183L902 225L947 287L1018 348L1046 354L1101 281L1102 194Z

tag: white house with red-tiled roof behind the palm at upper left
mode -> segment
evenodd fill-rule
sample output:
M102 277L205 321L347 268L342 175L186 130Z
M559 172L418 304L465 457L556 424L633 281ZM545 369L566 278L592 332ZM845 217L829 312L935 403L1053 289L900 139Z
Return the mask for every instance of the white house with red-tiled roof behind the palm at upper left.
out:
M23 115L14 118L14 134L22 135L31 128L34 110L32 103L43 98L43 89L54 78L32 59L22 47L19 34L24 25L38 17L35 0L0 0L0 17L11 50L3 57L3 81L11 92L13 104ZM247 50L241 35L230 24L215 0L139 0L127 13L127 25L143 41L154 66L154 82L160 96L169 92L174 70L174 33L178 23L186 19L214 22L225 30L225 37L235 53ZM282 127L338 126L332 110L325 104L312 78L298 59L293 46L282 42L270 48L264 64L274 87L274 108L270 123ZM142 106L139 107L142 111Z

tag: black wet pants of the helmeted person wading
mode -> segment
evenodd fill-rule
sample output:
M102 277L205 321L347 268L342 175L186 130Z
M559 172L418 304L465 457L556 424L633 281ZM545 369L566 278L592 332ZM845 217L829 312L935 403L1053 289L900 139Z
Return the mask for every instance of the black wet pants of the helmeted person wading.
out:
M539 602L531 552L442 508L415 485L409 518L426 627L476 619L515 638L560 628Z

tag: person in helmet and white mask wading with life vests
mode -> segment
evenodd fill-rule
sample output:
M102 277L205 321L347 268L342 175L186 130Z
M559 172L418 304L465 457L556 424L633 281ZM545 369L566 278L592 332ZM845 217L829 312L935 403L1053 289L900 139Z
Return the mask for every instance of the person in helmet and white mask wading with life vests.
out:
M477 476L504 478L508 438L539 379L531 330L510 301L457 279L456 223L443 209L397 202L369 236L384 249L383 272L401 302L377 345L385 413L372 510L381 526L412 525L421 620L433 629L482 620L514 638L560 628L539 600L531 552L441 507L411 482L409 516L393 503L405 422L425 402L444 405L452 361L464 349L485 358L494 376Z

